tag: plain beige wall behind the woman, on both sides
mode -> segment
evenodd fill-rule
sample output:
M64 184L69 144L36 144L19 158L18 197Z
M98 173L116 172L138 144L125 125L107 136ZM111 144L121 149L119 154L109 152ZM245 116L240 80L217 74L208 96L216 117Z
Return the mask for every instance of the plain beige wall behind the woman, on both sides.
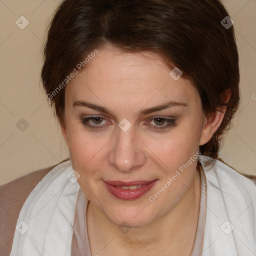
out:
M68 157L40 83L41 45L59 2L0 0L0 184ZM234 20L242 100L220 156L240 172L256 174L256 1L223 3ZM29 21L24 29L20 16Z

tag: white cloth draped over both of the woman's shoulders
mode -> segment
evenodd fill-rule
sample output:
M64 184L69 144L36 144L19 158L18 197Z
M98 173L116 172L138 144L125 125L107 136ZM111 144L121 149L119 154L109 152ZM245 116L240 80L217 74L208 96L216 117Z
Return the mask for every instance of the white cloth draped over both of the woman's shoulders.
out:
M205 168L206 222L202 256L256 255L256 186L221 161ZM70 256L79 184L70 160L55 166L26 199L10 256ZM199 256L199 255L198 255Z

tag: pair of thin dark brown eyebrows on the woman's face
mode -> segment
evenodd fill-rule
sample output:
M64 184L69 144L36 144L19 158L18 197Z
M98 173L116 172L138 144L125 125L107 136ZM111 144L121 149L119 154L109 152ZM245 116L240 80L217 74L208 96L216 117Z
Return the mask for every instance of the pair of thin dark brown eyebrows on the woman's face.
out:
M103 106L92 104L92 103L89 103L89 102L86 102L86 101L83 101L83 100L74 101L73 102L73 107L75 107L75 106L88 107L88 108L95 109L99 112L103 112L103 113L106 113L106 114L113 114L111 111L109 111L107 108L105 108ZM177 102L177 101L168 101L168 102L160 104L160 105L156 105L156 106L153 106L153 107L142 109L142 110L139 111L139 115L160 111L162 109L166 109L166 108L174 107L174 106L187 106L187 104L183 103L183 102Z

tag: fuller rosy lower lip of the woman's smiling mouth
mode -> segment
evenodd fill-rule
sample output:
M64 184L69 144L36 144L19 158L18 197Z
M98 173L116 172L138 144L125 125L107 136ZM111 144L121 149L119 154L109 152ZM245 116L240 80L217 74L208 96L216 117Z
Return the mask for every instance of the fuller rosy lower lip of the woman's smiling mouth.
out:
M134 200L145 194L155 184L157 180L148 183L145 186L141 186L136 189L122 189L113 185L110 185L104 181L108 191L118 199L122 200Z

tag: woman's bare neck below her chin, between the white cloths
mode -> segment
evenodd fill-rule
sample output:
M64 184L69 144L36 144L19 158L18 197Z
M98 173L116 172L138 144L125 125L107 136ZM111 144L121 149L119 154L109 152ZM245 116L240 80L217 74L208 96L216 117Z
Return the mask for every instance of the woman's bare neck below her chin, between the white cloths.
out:
M120 232L118 225L88 202L87 219L90 221L87 221L87 229L91 253L102 256L110 255L112 251L120 255L134 255L138 252L139 255L165 255L171 251L172 255L190 255L198 224L199 205L198 170L171 211L146 226L132 227L126 233Z

